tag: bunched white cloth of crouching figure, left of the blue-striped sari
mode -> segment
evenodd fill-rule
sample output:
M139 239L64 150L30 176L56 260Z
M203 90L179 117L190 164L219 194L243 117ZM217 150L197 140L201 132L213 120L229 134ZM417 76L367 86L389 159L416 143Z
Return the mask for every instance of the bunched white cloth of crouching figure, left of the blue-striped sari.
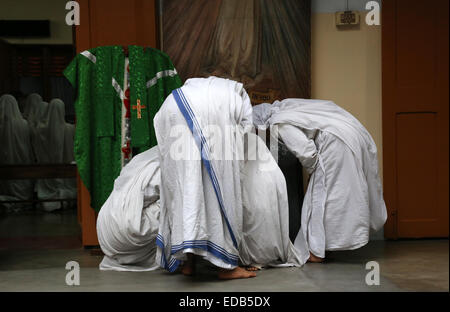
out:
M122 168L97 218L98 240L105 253L101 270L159 268L155 255L160 179L157 147L136 155Z

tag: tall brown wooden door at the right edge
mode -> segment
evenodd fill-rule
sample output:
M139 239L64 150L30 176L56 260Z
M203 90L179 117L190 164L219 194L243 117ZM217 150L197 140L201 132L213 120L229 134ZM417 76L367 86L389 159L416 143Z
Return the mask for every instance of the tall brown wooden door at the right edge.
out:
M387 238L448 237L449 2L383 2Z

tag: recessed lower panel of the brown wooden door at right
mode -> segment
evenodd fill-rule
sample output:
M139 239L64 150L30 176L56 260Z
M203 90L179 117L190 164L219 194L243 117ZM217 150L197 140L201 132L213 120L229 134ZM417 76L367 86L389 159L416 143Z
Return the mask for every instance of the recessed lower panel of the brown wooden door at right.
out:
M437 114L397 114L397 196L400 237L439 236ZM433 233L434 232L434 233Z

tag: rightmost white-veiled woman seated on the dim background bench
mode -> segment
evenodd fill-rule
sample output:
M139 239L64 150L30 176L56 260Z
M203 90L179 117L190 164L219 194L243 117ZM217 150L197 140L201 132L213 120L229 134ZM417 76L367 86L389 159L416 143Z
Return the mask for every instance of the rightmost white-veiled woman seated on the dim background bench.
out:
M53 99L33 131L33 146L39 164L71 163L74 125L66 123L64 103ZM36 183L39 199L76 198L75 179L41 179ZM62 208L60 202L43 202L45 211Z

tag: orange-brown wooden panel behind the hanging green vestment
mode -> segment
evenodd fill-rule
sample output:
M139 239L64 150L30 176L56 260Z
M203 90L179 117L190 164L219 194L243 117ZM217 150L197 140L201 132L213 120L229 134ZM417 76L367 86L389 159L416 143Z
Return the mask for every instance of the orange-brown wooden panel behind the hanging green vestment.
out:
M157 47L155 0L79 0L77 52L104 45ZM78 216L83 246L98 245L96 214L89 192L78 178Z

